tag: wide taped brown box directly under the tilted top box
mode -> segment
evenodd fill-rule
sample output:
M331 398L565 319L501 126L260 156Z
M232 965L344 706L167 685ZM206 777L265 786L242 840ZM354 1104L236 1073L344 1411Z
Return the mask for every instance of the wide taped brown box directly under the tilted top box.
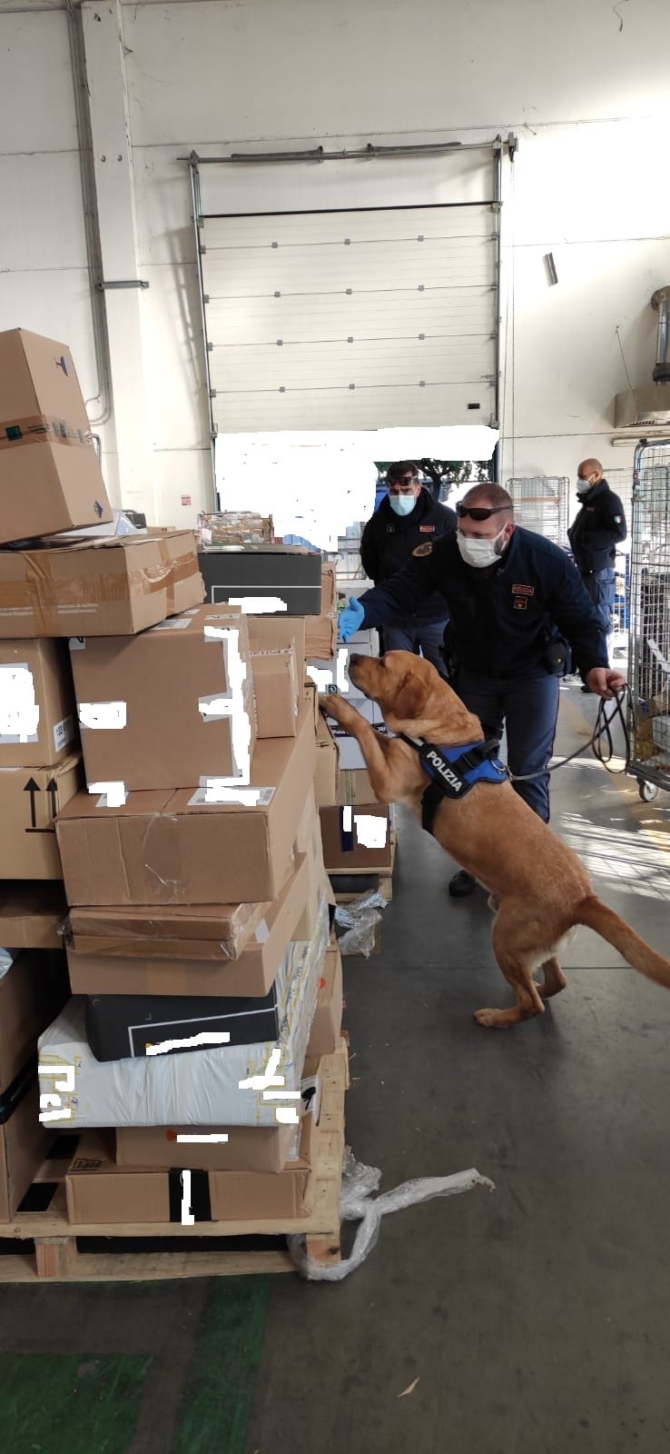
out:
M132 635L203 595L190 531L0 551L0 637Z

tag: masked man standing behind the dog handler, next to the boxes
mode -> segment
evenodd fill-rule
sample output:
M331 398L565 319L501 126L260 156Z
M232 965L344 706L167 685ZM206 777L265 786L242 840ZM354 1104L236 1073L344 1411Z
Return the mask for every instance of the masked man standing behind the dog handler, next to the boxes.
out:
M360 561L375 586L391 580L426 541L439 539L456 529L456 515L446 505L436 505L419 483L411 459L400 459L387 471L388 494L368 521L360 541ZM433 592L416 611L394 618L384 627L385 651L419 651L445 675L440 656L446 627L445 598Z

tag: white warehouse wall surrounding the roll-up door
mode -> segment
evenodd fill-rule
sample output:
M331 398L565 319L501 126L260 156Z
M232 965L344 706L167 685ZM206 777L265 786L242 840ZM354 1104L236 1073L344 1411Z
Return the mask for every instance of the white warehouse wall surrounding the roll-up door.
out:
M93 397L65 16L1 9L0 180L15 205L4 208L0 326L20 321L65 337ZM647 382L655 333L648 300L670 281L667 0L616 9L610 0L144 0L124 4L122 28L163 522L190 523L209 503L190 195L177 160L190 148L355 148L516 129L503 209L501 308L513 284L516 326L501 478L574 478L587 454L618 467L632 458L609 445L613 395L626 387L616 327L634 384ZM430 201L439 166L421 167L328 163L234 177L228 169L224 186L241 209L295 205L305 182L312 205L328 205L336 186L375 205ZM554 288L542 263L549 250ZM112 457L113 438L106 448Z

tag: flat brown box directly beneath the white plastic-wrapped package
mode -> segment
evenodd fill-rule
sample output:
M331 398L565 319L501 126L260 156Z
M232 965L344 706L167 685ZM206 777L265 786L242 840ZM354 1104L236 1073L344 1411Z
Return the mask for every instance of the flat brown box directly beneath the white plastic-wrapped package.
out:
M227 1136L227 1141L193 1144L179 1137ZM295 1136L294 1125L195 1127L138 1125L116 1131L118 1166L157 1166L160 1170L198 1168L212 1172L283 1170Z

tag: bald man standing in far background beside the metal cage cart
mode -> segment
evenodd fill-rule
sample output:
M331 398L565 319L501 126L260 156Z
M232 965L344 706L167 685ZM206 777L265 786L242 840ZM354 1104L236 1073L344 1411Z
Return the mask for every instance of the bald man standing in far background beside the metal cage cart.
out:
M581 580L599 611L603 631L612 631L616 545L628 535L619 496L610 490L599 459L583 459L577 470L581 509L568 529L568 541ZM590 688L581 688L589 692Z

